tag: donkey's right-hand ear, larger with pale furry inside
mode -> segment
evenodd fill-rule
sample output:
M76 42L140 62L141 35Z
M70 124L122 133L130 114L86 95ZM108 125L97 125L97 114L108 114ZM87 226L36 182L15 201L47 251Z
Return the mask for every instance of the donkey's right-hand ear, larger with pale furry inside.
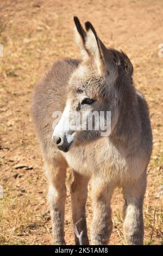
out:
M98 38L95 28L93 28L89 21L85 23L85 28L87 32L85 48L90 56L93 57L93 61L97 66L99 74L105 76L107 74L104 59L105 46Z

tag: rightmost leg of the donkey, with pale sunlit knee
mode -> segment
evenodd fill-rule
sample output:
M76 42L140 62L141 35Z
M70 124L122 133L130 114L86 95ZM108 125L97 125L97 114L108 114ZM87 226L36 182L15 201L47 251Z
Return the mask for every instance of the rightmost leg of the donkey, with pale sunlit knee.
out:
M127 245L143 245L143 198L146 191L146 174L123 187L124 238Z

